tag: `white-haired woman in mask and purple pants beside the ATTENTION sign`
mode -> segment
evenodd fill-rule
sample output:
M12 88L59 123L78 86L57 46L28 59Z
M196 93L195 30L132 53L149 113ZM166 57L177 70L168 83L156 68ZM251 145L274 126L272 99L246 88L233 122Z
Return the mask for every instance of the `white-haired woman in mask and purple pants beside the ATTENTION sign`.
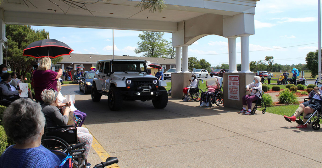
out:
M246 115L251 115L251 102L259 99L260 92L262 92L261 82L259 76L254 76L254 80L251 84L246 85L247 91L251 91L251 94L245 95L242 97L242 111L240 113L244 113ZM258 92L257 92L257 90ZM248 107L248 111L246 111L246 105Z

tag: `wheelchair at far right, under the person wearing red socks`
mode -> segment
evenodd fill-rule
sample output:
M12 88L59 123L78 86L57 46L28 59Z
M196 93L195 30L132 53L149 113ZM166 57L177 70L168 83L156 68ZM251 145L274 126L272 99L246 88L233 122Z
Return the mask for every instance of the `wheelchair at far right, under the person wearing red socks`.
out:
M307 102L309 100L309 98L304 98L304 102ZM299 119L295 120L295 122L301 125L311 124L314 130L319 130L321 128L320 119L322 119L322 107L320 110L316 110L311 114L307 114L304 119L307 119L308 121L306 123L303 122L302 113L300 114Z

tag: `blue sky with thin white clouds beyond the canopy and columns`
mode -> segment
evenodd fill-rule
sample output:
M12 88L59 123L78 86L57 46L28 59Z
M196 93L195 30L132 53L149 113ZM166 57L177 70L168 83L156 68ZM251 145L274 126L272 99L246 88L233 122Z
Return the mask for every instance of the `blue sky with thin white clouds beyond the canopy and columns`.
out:
M251 35L250 61L273 56L278 64L305 62L306 54L318 49L317 0L261 0L257 2L255 34ZM69 45L72 53L112 54L112 30L32 26L49 31L50 39ZM135 54L141 31L114 30L114 55ZM171 33L164 38L170 40ZM241 63L240 38L236 39L237 64ZM258 51L261 50L261 51ZM212 66L228 64L228 39L209 35L189 46L189 57L206 59Z

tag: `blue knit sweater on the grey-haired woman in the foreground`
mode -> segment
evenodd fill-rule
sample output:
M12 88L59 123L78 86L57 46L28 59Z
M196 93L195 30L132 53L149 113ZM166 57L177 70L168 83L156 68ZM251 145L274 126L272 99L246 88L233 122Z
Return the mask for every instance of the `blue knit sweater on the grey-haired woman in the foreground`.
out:
M28 149L9 146L0 157L0 168L55 168L60 159L42 145Z

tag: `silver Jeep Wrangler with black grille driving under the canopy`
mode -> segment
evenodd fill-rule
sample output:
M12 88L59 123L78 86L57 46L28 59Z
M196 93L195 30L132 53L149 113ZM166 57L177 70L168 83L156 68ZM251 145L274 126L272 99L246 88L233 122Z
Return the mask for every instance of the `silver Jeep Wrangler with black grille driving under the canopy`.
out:
M108 96L109 109L119 110L122 102L152 100L157 109L165 108L168 94L165 81L149 75L145 60L112 59L97 61L91 97L99 102L102 95Z

